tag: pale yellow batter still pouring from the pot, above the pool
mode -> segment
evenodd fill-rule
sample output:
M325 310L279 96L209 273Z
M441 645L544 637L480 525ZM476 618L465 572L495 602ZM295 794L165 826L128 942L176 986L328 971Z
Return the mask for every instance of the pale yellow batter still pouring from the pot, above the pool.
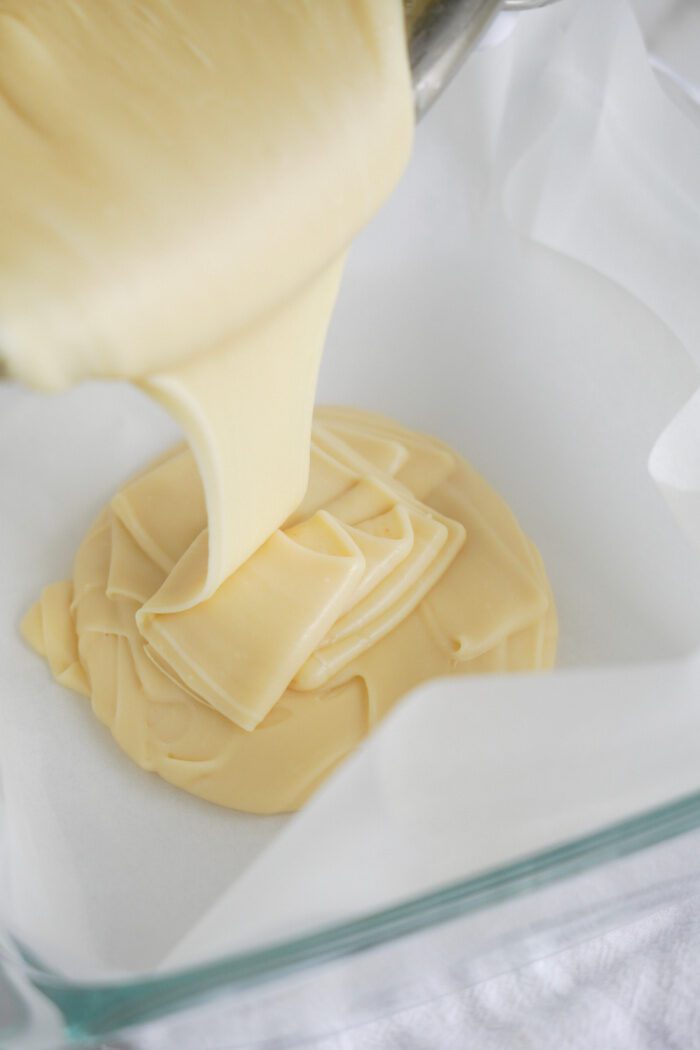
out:
M191 605L304 494L341 258L410 148L401 3L1 0L0 59L0 346L182 424Z

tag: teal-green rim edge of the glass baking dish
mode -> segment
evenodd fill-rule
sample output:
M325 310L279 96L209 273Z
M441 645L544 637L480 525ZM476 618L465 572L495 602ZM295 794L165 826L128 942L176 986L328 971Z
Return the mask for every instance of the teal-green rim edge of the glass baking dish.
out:
M119 984L73 984L28 958L25 972L60 1009L66 1040L75 1045L91 1043L200 1004L222 989L248 988L378 947L698 827L700 792L401 904L176 973Z

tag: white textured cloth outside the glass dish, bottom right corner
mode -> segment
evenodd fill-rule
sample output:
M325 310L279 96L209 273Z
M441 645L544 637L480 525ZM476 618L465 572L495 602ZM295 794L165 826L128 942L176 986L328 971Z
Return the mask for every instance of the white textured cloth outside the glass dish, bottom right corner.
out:
M700 897L313 1050L694 1050Z

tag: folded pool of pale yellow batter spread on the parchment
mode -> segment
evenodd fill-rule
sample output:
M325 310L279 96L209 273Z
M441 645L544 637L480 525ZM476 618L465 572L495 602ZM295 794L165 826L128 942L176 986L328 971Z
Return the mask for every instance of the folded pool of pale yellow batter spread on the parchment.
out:
M552 594L512 513L382 417L319 410L298 510L212 597L163 613L204 528L178 447L113 498L23 624L134 761L203 798L294 810L420 681L552 665Z

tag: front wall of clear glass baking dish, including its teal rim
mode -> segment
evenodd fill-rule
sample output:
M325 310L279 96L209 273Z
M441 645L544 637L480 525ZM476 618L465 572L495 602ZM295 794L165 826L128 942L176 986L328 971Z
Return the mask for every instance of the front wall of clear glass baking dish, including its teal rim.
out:
M309 936L160 979L4 963L3 1048L295 1046L633 922L700 885L700 795Z

